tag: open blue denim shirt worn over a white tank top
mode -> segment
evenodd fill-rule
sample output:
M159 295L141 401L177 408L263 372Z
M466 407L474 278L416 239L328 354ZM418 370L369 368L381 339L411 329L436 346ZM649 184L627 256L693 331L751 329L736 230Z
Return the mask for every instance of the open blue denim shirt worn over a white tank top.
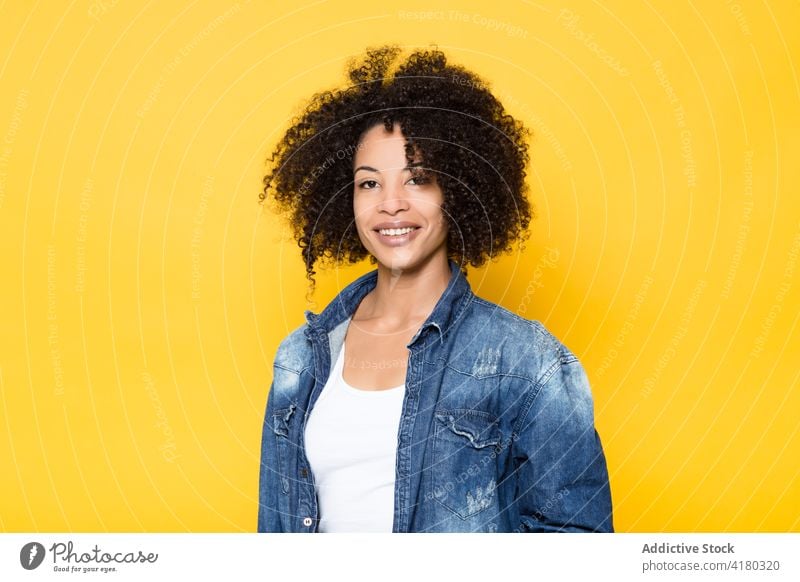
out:
M407 345L393 532L613 531L605 456L578 359L537 321L448 286ZM377 271L278 347L264 417L258 531L315 532L303 436Z

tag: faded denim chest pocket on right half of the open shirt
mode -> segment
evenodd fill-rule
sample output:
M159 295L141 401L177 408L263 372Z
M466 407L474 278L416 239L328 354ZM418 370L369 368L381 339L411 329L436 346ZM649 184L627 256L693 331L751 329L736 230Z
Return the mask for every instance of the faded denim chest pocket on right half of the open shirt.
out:
M434 414L430 496L462 519L496 505L497 422L477 410Z

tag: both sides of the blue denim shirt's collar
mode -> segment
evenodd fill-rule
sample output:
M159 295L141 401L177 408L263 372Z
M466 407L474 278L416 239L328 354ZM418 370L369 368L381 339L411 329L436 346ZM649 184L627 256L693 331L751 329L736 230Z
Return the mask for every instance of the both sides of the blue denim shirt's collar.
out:
M450 266L450 281L414 338L421 335L423 330L433 327L439 332L440 339L462 315L464 308L472 298L472 289L469 281L461 272L458 264L452 259L448 260ZM342 321L351 317L364 296L375 288L378 282L378 270L370 271L350 283L333 298L328 306L317 315L306 310L305 317L308 322L306 335L330 333ZM414 340L412 340L414 341Z

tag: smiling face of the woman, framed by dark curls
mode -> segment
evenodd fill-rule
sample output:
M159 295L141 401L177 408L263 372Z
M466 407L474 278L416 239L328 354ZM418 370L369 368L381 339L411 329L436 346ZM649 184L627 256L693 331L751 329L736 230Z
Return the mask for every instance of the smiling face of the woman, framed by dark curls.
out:
M361 242L378 263L410 270L447 262L444 195L435 176L409 164L406 138L395 124L364 132L353 162L353 210ZM416 176L416 177L415 177Z

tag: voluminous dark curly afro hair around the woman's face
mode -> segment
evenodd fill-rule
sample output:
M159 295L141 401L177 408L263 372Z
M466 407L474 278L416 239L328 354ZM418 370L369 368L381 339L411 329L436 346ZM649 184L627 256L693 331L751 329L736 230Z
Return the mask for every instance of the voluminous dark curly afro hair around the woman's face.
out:
M477 75L448 64L434 45L392 65L396 45L348 63L350 84L315 94L267 160L259 195L287 214L314 286L318 261L356 263L369 255L353 213L353 157L362 134L399 124L409 163L421 158L444 194L448 257L464 270L509 252L527 237L530 131L508 115ZM375 263L375 258L370 259Z

